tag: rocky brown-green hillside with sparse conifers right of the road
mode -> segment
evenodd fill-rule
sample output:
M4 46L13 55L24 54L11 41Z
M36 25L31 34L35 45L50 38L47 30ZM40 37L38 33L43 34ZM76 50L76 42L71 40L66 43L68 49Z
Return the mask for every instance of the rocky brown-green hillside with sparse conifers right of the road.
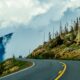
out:
M74 25L68 30L68 26L60 33L55 33L55 38L49 32L49 41L36 48L27 58L34 59L80 59L80 18L74 21Z

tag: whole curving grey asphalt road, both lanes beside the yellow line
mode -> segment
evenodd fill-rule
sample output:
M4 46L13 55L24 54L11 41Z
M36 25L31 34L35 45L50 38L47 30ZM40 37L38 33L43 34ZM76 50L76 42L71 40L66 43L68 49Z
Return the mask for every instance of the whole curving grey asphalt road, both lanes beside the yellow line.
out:
M24 59L25 60L25 59ZM29 60L35 62L35 66L19 73L4 77L0 80L54 80L60 70L63 69L59 62L64 62L67 69L59 80L80 80L80 61L59 60Z

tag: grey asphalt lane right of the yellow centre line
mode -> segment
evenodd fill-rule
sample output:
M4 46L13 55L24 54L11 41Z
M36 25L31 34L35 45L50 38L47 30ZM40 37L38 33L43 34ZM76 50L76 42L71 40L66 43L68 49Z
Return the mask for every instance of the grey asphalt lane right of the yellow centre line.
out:
M60 80L80 80L80 61L63 61L67 70Z

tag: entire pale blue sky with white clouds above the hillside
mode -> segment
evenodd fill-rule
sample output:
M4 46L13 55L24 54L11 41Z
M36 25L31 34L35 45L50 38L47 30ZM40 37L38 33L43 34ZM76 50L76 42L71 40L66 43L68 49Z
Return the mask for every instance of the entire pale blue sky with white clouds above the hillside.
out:
M0 36L14 32L5 56L28 55L42 44L44 33L48 40L53 26L56 32L60 21L64 27L79 16L80 0L0 0Z

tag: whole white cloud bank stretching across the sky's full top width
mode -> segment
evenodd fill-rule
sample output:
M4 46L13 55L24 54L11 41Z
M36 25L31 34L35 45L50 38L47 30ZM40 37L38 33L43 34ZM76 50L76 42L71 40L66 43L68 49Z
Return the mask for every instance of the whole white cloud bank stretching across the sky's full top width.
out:
M0 21L3 27L10 23L27 23L33 16L49 13L54 21L64 12L80 7L80 0L0 0Z

